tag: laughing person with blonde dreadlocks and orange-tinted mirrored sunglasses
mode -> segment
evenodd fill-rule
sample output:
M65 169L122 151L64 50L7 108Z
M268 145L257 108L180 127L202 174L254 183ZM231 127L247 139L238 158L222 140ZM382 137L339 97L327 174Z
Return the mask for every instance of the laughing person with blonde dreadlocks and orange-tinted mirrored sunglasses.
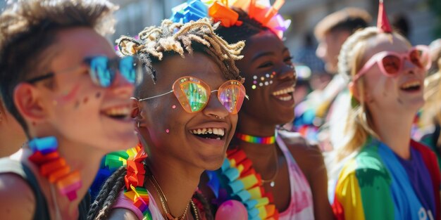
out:
M216 27L163 20L118 39L151 75L133 98L144 144L104 183L89 219L212 219L195 190L204 170L221 166L245 96L235 66L244 43L227 44Z

